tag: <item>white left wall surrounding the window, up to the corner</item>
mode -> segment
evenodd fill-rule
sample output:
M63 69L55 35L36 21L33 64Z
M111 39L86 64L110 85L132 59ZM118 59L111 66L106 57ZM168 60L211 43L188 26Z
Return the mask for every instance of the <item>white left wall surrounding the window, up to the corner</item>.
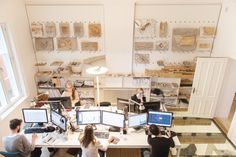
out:
M34 83L35 58L32 41L29 33L29 25L22 0L0 0L0 23L6 23L10 37L15 45L16 58L19 59L20 73L24 78L27 99L21 103L5 119L0 120L0 149L2 149L2 137L9 133L8 124L12 118L21 117L21 108L28 105L29 98L36 94Z

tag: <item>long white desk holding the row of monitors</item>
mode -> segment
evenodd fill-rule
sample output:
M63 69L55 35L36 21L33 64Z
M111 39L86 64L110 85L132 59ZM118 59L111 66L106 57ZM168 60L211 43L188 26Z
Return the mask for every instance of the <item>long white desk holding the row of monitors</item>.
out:
M93 108L94 109L94 108ZM114 108L101 108L101 109L109 109L114 110ZM75 112L69 113L71 116L75 115ZM99 129L105 129L103 125L98 125ZM38 139L36 141L36 147L54 147L54 148L80 148L80 142L78 140L80 133L79 132L71 132L67 131L65 136L57 133L49 133L49 136L53 136L56 140L52 143L45 143L46 133L38 134ZM30 140L31 134L26 135ZM149 144L147 143L147 135L145 135L144 129L135 131L132 128L127 130L127 134L123 135L120 132L110 132L110 136L115 136L120 139L117 144L110 144L108 148L149 148ZM99 139L101 143L107 142L107 139ZM175 148L171 149L173 154L179 156L181 144L177 136L173 138L175 142Z

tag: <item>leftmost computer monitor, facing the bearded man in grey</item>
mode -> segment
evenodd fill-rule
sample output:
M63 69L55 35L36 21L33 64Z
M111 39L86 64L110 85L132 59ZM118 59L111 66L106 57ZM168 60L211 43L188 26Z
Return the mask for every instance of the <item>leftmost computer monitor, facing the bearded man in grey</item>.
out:
M25 123L48 123L47 109L23 108L22 114Z

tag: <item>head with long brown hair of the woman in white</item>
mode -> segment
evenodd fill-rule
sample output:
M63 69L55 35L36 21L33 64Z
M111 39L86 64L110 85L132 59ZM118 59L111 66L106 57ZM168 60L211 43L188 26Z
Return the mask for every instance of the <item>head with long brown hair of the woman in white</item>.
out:
M81 139L81 144L87 148L90 143L95 144L95 138L93 134L93 126L87 125L84 129L84 136Z

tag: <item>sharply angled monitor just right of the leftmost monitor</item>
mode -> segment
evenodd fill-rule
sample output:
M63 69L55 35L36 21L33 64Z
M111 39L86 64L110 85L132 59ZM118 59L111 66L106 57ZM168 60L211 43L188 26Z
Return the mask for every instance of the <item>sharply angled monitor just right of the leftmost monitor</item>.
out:
M63 131L67 130L67 119L58 112L51 110L51 122Z

